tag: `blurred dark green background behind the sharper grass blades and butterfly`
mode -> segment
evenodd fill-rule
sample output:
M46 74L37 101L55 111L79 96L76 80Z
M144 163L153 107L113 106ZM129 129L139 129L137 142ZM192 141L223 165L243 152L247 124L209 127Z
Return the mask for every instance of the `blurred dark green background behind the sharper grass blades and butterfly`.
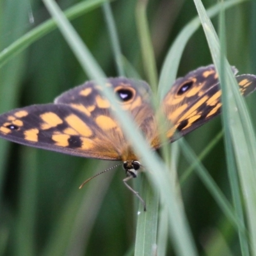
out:
M62 10L79 1L57 1ZM111 3L122 53L145 79L135 21L137 1ZM217 1L203 1L205 8ZM173 40L196 17L193 1L149 0L148 22L157 68ZM42 1L0 1L0 50L49 19ZM226 13L227 56L239 74L256 74L256 4ZM212 19L218 29L218 17ZM72 20L108 77L118 76L102 8ZM179 76L212 63L202 28L189 40ZM58 29L37 40L0 69L0 111L52 102L84 83L86 75ZM256 94L246 102L256 127ZM221 131L216 118L186 136L196 154ZM202 161L225 195L230 187L221 140ZM115 163L83 159L0 140L0 255L132 255L138 200L125 188L120 168L79 185ZM180 157L179 175L188 167ZM140 178L134 181L140 187ZM236 230L195 174L182 185L184 207L202 255L240 255ZM173 255L169 239L168 253Z

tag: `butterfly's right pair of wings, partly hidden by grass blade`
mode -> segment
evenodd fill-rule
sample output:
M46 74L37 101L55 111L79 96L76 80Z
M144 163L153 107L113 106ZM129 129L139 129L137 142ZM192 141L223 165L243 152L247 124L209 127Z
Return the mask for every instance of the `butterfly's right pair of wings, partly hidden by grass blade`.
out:
M236 74L236 68L233 68ZM256 89L256 76L237 76L242 95ZM167 137L174 141L175 131L181 136L205 124L221 111L221 90L214 65L198 68L177 79L164 97L163 108L170 123Z

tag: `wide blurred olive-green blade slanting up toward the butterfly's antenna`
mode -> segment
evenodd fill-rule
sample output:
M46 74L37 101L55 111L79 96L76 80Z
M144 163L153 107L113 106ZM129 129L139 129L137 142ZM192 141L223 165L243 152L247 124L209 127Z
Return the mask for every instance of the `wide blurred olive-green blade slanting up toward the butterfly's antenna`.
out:
M81 175L78 175L75 182L76 186L69 193L67 202L63 207L63 211L61 211L61 215L58 216L58 220L56 220L42 255L76 256L83 255L86 252L92 227L97 218L95 212L99 212L115 172L108 173L104 179L99 177L99 179L89 182L81 190L78 188L81 185L81 180L84 180L84 173L87 173L86 177L88 177L88 170L99 172L102 168L105 168L102 164L97 168L95 168L95 165L94 168L88 168L87 164L86 170L81 170Z

